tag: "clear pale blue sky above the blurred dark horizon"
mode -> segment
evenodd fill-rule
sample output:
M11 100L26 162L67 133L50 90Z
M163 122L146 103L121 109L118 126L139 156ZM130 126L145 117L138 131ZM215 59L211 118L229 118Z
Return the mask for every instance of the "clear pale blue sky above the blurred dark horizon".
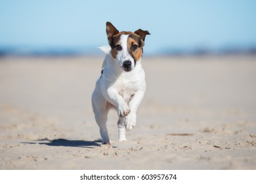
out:
M0 46L91 48L119 31L150 31L146 53L256 46L256 1L0 0Z

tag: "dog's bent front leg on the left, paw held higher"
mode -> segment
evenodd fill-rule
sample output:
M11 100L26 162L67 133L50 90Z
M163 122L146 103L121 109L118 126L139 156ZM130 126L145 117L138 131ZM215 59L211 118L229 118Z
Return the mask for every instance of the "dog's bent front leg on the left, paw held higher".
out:
M112 105L117 107L117 111L120 117L125 117L130 113L129 105L123 100L123 97L119 95L116 89L108 88L106 90L106 99Z

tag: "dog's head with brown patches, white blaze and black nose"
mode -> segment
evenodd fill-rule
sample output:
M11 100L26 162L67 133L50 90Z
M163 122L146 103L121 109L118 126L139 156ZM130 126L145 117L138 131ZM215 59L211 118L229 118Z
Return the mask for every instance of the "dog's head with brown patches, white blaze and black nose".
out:
M138 29L134 33L119 32L110 22L106 22L106 33L112 57L124 71L132 71L142 57L145 37L150 33L142 29Z

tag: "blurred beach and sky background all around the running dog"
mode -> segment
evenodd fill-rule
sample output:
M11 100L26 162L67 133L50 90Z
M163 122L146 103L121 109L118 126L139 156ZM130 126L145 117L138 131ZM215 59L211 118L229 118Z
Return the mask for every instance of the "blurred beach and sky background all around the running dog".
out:
M107 21L151 33L117 148L91 107ZM256 169L255 78L255 0L0 0L0 169Z

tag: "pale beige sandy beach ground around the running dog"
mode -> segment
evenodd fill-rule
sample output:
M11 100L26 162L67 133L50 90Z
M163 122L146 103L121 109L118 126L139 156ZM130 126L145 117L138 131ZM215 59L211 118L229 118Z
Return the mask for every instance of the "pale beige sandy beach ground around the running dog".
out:
M103 57L0 58L0 169L256 169L256 57L142 59L137 126L101 146Z

